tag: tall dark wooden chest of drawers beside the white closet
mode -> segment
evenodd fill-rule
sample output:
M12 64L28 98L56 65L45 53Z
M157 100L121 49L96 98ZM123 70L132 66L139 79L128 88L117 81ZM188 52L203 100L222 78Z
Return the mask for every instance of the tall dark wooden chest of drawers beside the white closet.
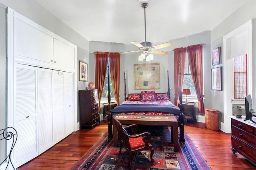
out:
M100 124L98 90L79 90L80 128L93 129Z

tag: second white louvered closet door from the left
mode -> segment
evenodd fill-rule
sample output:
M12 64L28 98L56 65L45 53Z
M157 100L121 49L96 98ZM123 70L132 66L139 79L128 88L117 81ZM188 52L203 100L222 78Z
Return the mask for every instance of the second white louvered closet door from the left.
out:
M52 110L52 70L38 68L38 144L39 154L54 145Z

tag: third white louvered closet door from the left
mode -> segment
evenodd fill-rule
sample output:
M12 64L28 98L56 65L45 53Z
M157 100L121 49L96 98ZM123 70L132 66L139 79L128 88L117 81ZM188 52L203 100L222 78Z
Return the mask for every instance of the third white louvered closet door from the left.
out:
M53 70L53 135L54 143L65 137L64 133L64 74Z

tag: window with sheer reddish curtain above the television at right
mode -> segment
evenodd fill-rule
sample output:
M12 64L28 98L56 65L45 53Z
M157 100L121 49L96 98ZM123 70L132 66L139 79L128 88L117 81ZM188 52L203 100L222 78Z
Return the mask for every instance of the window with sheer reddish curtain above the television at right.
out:
M234 57L234 99L247 96L247 54Z

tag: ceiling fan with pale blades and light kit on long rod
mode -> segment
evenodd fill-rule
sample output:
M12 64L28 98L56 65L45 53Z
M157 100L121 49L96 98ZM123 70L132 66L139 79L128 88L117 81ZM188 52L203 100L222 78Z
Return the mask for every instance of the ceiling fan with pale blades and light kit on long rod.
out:
M131 42L133 45L136 45L140 49L137 50L137 51L121 52L120 54L133 53L133 52L142 52L141 54L144 55L145 57L148 57L152 53L159 54L159 55L166 55L166 54L168 54L167 52L159 51L157 49L161 49L161 48L165 48L165 47L170 47L170 46L172 46L172 43L166 42L166 43L162 43L162 44L159 44L159 45L152 46L151 42L146 41L146 8L148 7L148 3L141 4L141 7L144 8L145 41L142 42L142 43ZM145 59L145 57L144 57L144 59Z

